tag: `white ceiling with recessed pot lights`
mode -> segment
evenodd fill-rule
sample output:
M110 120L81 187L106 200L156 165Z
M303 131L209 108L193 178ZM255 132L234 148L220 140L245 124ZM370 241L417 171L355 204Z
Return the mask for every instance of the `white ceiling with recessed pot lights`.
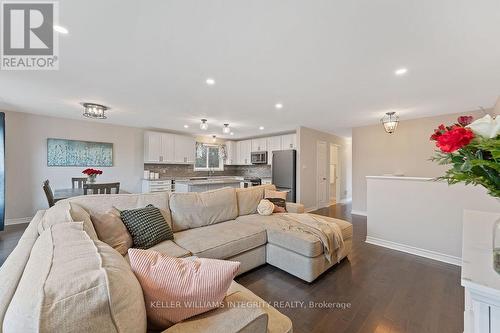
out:
M60 22L60 70L0 72L0 109L83 119L89 101L114 124L349 135L500 94L498 0L72 0Z

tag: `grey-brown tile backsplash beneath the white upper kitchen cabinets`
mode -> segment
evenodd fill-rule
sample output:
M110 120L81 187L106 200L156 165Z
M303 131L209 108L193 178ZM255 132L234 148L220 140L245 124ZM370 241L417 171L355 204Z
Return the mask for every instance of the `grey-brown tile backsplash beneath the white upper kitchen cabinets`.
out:
M144 170L158 172L160 178L169 177L207 177L207 176L238 176L270 178L270 165L225 165L224 171L194 171L194 166L185 164L144 164Z

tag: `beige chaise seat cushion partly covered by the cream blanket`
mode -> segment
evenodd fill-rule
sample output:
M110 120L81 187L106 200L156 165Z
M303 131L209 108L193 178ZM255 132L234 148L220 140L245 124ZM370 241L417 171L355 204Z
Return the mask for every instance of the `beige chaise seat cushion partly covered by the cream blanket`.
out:
M299 231L282 230L278 225L277 218L277 215L261 216L254 214L240 216L236 219L236 222L265 228L269 243L303 256L314 258L323 253L323 244L316 236ZM337 223L342 230L344 240L352 237L352 224L349 222L325 216L321 216L321 218L332 223Z

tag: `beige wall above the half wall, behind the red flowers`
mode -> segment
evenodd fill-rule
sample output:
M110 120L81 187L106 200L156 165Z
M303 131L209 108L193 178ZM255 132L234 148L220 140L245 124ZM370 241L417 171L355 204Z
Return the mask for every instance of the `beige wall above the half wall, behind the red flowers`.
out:
M478 118L481 112L467 113ZM446 166L431 162L435 145L429 140L439 124L453 124L464 114L401 120L393 134L381 124L354 128L352 131L353 197L352 210L366 211L366 176L402 173L405 176L438 177Z

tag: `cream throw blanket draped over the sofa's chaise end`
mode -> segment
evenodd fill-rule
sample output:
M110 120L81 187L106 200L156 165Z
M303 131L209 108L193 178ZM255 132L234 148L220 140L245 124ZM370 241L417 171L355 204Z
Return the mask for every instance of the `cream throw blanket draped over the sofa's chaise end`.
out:
M342 230L336 223L323 220L311 214L276 214L282 230L305 232L319 238L323 244L323 254L329 263L339 262L344 252Z

